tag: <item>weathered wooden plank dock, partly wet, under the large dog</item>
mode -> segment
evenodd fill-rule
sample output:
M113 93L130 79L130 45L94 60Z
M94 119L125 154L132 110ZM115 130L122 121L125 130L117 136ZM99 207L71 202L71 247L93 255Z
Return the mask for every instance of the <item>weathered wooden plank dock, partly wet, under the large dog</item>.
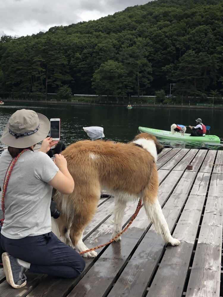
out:
M193 169L187 170L190 162ZM13 289L0 269L0 297L223 297L222 165L223 151L164 149L159 155L158 199L178 247L164 246L142 207L121 242L86 259L80 277L29 273L27 285ZM87 247L109 240L113 206L112 197L100 199L84 233ZM128 204L124 225L136 206Z

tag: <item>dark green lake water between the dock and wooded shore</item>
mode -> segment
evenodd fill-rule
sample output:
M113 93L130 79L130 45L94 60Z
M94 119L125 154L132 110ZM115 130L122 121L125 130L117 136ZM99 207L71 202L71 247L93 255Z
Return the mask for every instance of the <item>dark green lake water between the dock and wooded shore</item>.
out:
M18 109L33 109L50 118L61 119L61 141L66 145L76 140L89 139L83 127L101 126L105 139L127 142L134 138L138 127L170 130L171 124L192 125L201 118L205 125L211 126L210 134L223 138L223 116L221 110L140 108L126 109L125 106L99 105L45 105L45 104L4 104L0 106L0 135L12 115ZM187 133L190 129L187 129ZM197 148L204 143L188 143L176 140L159 139L160 143L178 148ZM0 144L1 146L1 144ZM211 149L222 146L207 144Z

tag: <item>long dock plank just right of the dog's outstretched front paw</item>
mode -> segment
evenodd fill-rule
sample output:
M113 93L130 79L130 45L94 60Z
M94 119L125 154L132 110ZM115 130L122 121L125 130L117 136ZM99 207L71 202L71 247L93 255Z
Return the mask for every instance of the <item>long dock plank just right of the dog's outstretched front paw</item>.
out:
M173 233L181 243L167 248L148 291L150 296L182 296L210 176L211 173L198 173Z

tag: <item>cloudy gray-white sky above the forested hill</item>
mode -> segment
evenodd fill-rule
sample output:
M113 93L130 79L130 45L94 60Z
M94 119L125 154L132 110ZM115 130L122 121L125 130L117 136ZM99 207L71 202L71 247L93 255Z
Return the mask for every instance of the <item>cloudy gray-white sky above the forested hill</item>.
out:
M97 20L151 0L0 0L0 36L24 36L50 27Z

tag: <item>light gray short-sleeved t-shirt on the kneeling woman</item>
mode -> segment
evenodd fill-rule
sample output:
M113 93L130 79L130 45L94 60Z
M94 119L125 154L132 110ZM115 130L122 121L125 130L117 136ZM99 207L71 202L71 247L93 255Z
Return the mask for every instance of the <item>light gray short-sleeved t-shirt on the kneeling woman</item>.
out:
M0 157L0 187L12 157L6 149ZM5 220L1 234L19 239L51 232L52 187L47 184L59 168L43 152L25 151L15 163L4 199Z

